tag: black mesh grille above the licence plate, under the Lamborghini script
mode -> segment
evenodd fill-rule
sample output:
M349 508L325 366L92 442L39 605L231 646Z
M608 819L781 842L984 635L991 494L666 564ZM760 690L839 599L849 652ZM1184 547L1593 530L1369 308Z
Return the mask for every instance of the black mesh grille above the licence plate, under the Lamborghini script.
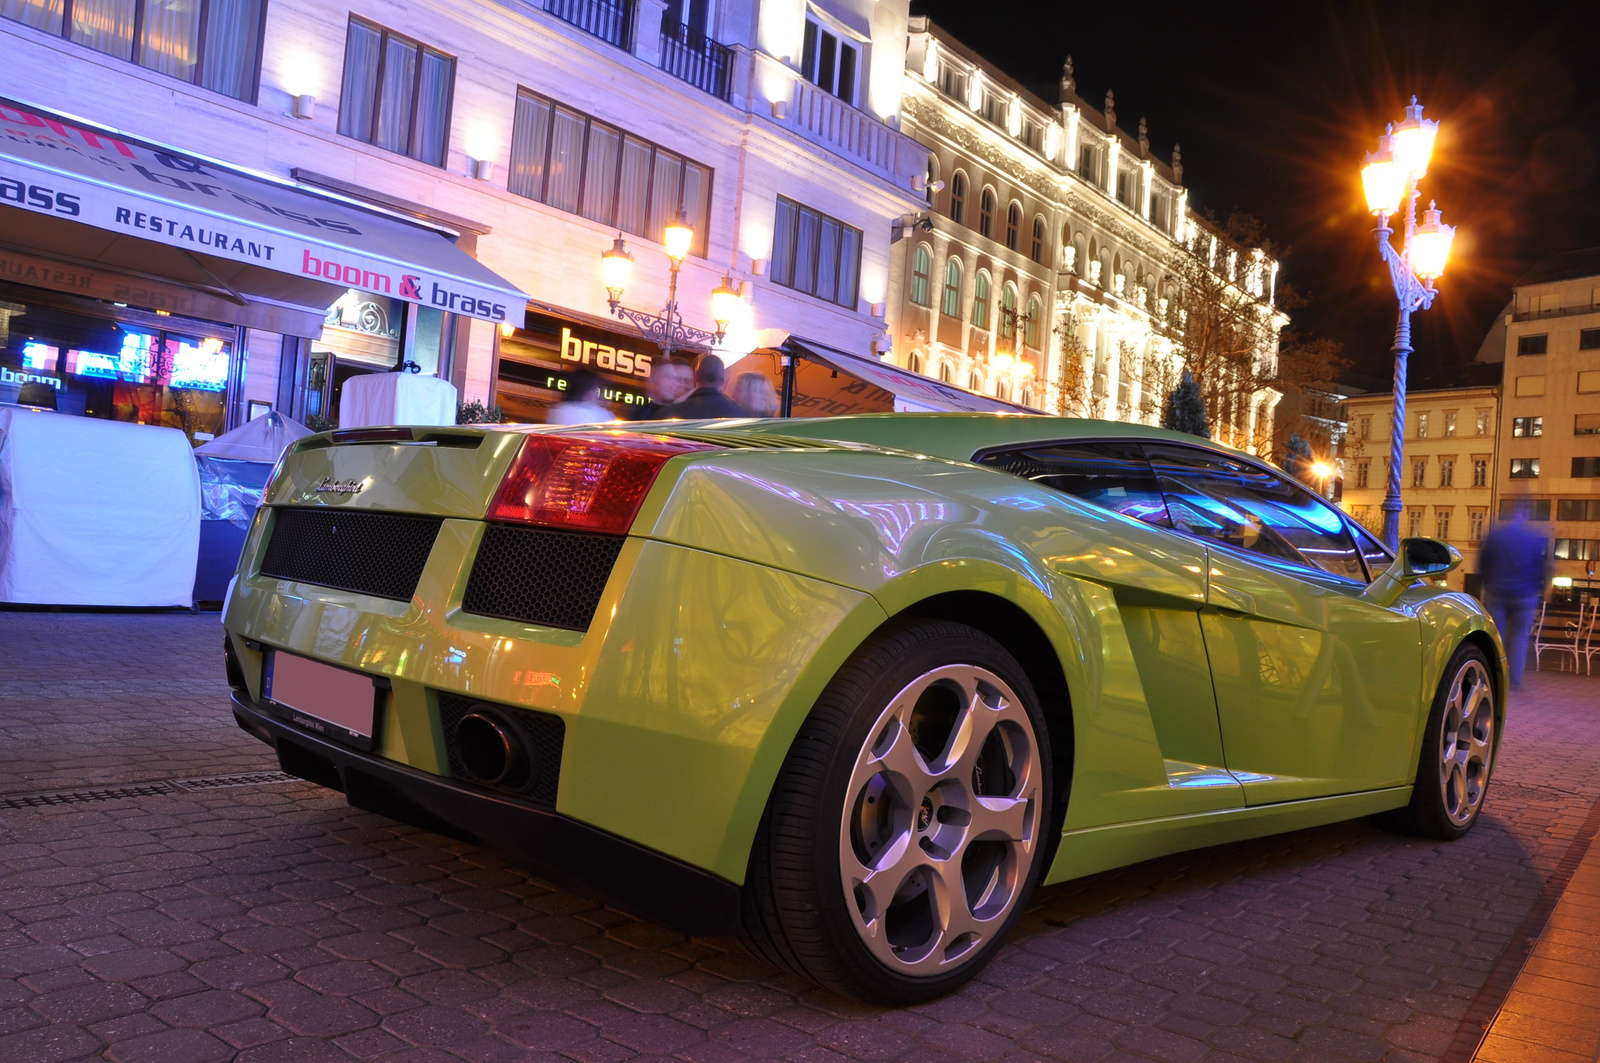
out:
M440 517L349 509L278 509L261 575L406 602Z

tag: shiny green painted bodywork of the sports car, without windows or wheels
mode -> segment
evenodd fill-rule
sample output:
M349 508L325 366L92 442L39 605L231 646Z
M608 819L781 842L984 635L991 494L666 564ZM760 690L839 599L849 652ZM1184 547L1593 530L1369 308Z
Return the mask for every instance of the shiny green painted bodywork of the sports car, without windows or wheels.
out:
M1499 640L1470 599L1421 586L1381 608L966 461L1011 442L1173 439L1098 421L638 426L726 448L664 466L589 631L474 616L461 599L482 517L528 431L563 429L291 448L224 615L253 693L246 639L386 676L379 754L434 773L450 770L437 692L560 714L562 813L733 882L822 688L885 621L938 596L1013 604L1059 660L1069 701L1048 708L1074 764L1050 880L1405 804L1429 700L1466 637L1493 650L1504 704ZM261 576L286 504L445 520L416 596L387 602Z

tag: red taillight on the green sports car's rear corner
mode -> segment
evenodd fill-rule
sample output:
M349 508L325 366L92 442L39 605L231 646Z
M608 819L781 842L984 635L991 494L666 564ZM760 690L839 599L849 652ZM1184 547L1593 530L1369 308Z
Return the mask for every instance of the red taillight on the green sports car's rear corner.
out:
M643 435L528 435L490 520L626 535L669 458L710 443Z

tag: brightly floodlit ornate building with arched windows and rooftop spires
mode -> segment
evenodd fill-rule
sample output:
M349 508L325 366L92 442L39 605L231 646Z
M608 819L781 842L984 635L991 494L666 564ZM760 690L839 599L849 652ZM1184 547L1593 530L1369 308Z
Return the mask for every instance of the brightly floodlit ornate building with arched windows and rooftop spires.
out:
M1277 359L1277 263L1200 223L1144 120L1094 109L1067 61L1046 104L925 18L910 21L902 130L930 149L928 210L902 219L896 360L1002 399L1069 415L1154 424L1181 373L1176 285L1186 247L1270 322L1261 368ZM1264 373L1270 375L1270 373ZM1213 408L1213 434L1270 440L1278 394Z

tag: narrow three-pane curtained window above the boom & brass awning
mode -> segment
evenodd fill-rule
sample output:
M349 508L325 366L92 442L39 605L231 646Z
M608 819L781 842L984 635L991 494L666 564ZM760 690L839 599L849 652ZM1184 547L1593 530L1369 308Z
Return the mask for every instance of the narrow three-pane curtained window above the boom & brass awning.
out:
M352 16L339 133L443 166L454 82L451 56Z

